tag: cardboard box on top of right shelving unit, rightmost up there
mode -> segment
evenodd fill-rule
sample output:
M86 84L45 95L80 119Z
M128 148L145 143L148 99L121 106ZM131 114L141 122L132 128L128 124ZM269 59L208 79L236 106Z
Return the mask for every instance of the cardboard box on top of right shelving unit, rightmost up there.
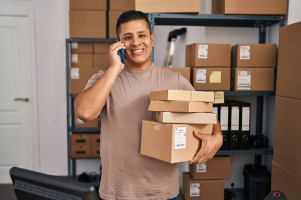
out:
M286 14L287 0L212 0L212 14Z

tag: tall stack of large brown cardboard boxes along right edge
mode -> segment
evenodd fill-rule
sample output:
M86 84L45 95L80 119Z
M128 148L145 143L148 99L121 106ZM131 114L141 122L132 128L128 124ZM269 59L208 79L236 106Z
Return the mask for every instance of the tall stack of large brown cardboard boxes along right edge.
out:
M301 188L301 22L280 27L272 190L299 199Z

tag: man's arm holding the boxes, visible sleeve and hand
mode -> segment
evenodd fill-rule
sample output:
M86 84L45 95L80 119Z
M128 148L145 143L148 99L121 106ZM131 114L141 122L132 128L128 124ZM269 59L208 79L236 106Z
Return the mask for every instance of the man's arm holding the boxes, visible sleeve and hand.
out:
M182 75L179 76L179 84L180 89L192 91L195 90L191 83ZM216 124L213 124L213 131L211 135L203 134L201 132L197 132L196 130L193 131L193 134L201 140L202 144L199 152L191 161L189 161L190 164L203 163L212 159L223 144L223 134L220 122L218 120Z

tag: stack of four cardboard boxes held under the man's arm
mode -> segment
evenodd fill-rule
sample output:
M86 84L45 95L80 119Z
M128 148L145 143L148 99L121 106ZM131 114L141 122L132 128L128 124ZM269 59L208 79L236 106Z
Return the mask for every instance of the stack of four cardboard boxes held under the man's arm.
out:
M148 110L156 120L142 120L141 154L170 163L191 160L201 147L193 130L212 134L214 92L150 91Z

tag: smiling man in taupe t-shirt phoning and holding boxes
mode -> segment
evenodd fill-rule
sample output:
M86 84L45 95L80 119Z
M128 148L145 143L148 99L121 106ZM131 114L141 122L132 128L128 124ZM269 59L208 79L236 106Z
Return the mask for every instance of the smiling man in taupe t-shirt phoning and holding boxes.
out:
M126 11L117 21L120 42L110 46L110 67L89 80L75 99L76 115L91 121L101 115L100 156L102 176L100 197L113 199L176 199L179 193L178 164L140 154L143 119L155 119L148 111L149 91L159 89L195 90L180 73L150 60L154 33L147 16ZM125 66L118 50L125 51ZM202 147L190 163L211 159L222 145L220 124L212 135L194 131Z

